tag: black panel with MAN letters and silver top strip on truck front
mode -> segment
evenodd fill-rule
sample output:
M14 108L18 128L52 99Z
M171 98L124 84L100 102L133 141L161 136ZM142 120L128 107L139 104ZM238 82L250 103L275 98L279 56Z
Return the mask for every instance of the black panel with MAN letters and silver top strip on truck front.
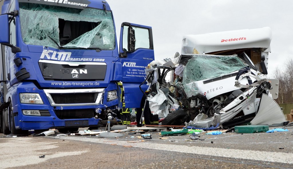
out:
M39 60L39 66L45 80L103 81L107 69L105 62Z

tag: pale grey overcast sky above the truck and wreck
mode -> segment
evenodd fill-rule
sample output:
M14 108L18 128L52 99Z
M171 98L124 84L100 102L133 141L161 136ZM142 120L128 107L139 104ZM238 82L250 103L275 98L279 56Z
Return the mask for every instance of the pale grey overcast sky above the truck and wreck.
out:
M117 35L122 22L153 28L155 59L180 53L183 35L268 26L272 29L268 72L293 53L292 0L107 0Z

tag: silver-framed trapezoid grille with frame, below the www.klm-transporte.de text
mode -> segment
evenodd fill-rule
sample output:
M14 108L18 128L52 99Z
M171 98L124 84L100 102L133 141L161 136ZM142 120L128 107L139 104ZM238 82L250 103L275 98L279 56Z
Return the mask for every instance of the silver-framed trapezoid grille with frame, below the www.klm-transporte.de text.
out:
M101 103L104 89L44 89L44 92L51 106L89 106ZM86 98L85 94L90 94L91 97ZM64 100L63 95L70 99Z

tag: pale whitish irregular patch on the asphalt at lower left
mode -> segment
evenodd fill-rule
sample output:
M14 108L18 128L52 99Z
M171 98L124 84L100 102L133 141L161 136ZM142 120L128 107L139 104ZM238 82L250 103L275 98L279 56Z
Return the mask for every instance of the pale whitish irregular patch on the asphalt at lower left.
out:
M0 168L21 167L25 165L38 164L51 158L80 155L87 152L87 150L85 150L52 153L50 149L58 148L59 146L56 144L64 142L44 142L37 137L16 137L1 139L5 139L6 141L9 139L9 141L0 144ZM40 141L38 141L38 139L40 139ZM42 155L45 155L45 158L39 158L39 156Z

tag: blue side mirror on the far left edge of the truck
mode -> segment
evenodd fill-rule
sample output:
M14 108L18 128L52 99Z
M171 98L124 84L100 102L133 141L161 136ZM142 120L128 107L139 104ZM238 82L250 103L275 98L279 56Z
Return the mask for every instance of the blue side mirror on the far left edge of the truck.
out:
M8 15L0 16L0 43L4 43L3 45L9 44L9 20Z

